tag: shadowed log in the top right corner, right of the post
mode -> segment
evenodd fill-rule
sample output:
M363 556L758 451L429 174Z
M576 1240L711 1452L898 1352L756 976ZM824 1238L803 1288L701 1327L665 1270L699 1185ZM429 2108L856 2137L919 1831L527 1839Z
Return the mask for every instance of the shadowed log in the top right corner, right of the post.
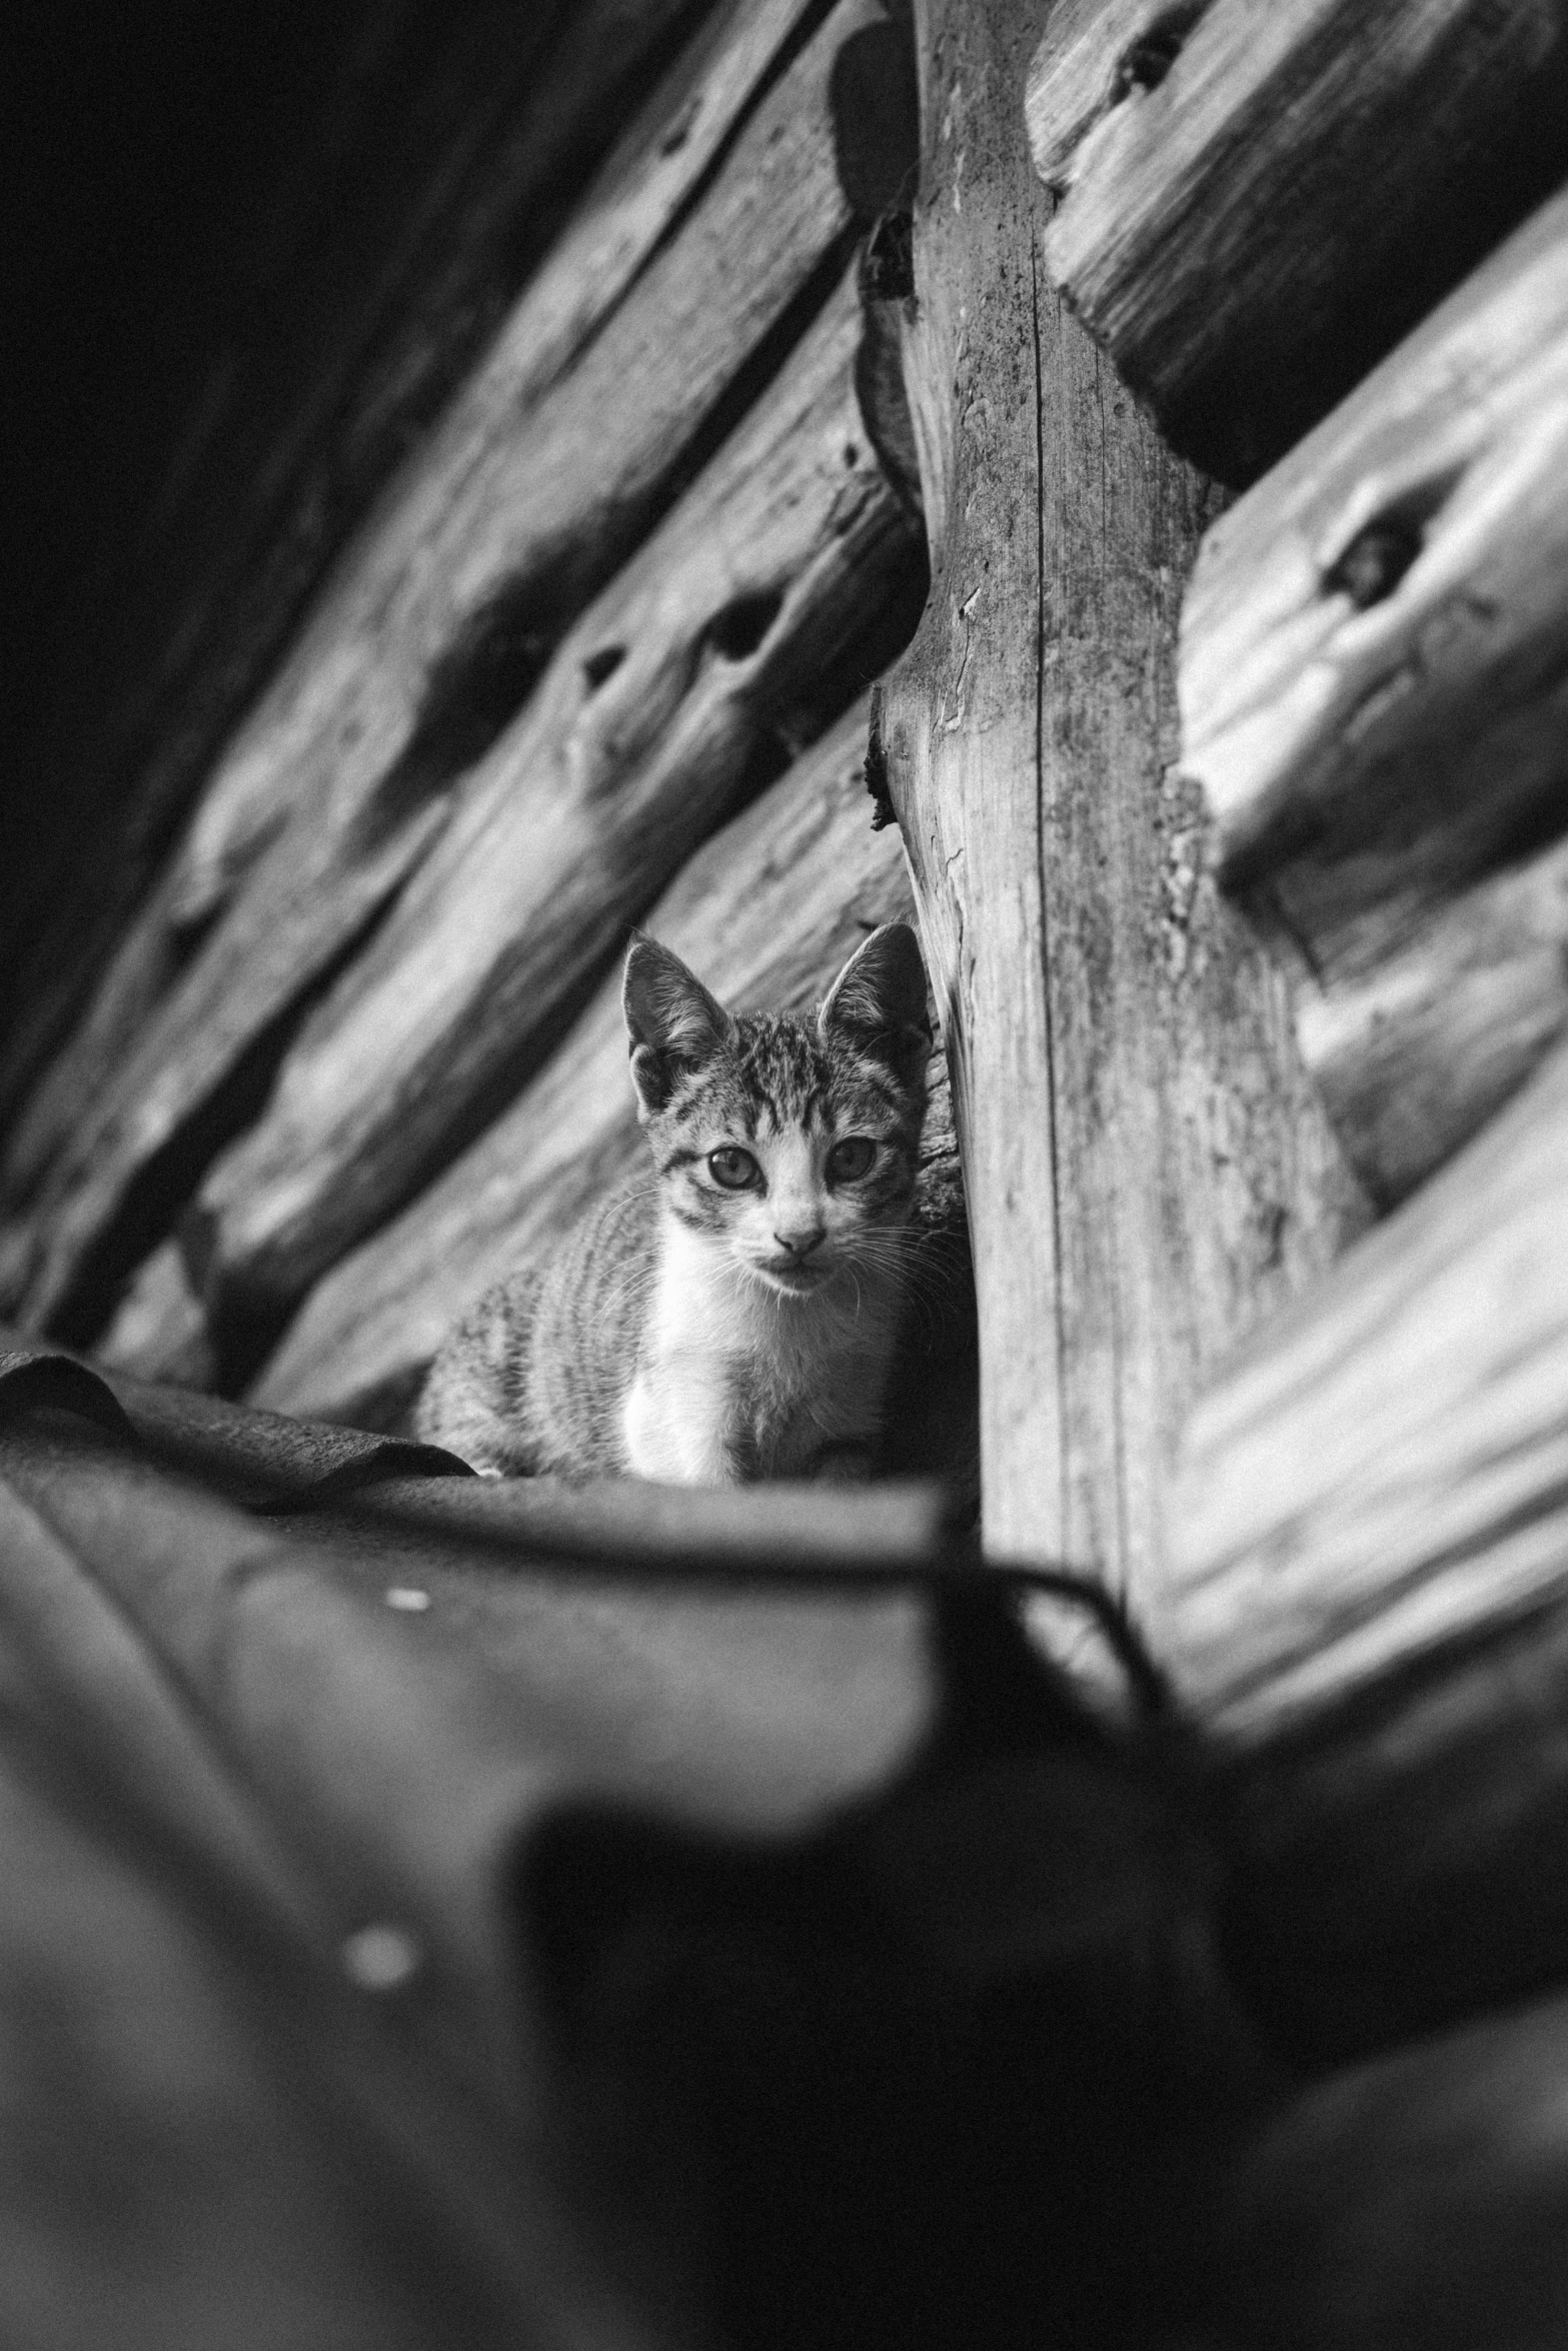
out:
M1070 0L1030 73L1046 273L1246 482L1561 179L1556 0Z

